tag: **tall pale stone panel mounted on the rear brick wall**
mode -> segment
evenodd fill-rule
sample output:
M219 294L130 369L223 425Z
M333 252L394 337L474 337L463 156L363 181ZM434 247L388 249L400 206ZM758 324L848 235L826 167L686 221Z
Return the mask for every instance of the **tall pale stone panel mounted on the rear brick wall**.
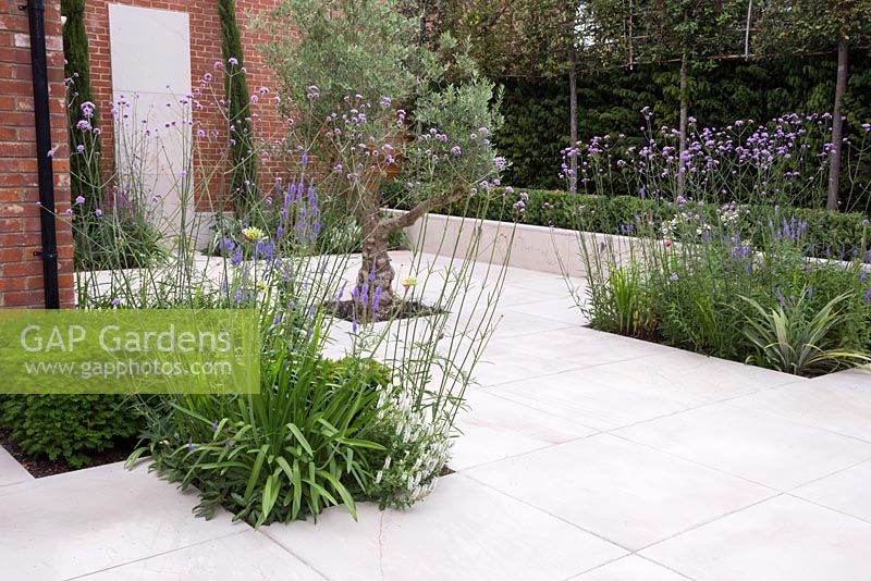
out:
M194 208L188 14L109 4L109 50L119 181L177 233Z

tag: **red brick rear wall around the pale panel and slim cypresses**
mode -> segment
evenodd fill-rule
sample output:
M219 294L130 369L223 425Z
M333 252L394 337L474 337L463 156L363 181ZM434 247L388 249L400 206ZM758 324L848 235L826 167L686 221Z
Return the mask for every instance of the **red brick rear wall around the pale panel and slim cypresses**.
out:
M125 4L158 10L172 10L187 12L191 26L191 86L196 89L207 74L214 77L213 90L219 98L223 97L223 78L214 71L214 62L222 60L221 52L221 24L218 17L216 0L89 0L85 8L85 26L88 33L90 52L90 74L94 88L94 98L100 109L100 124L102 133L103 171L111 172L112 131L111 115L112 103L112 71L109 39L109 9L108 4ZM237 18L242 30L244 47L244 64L247 71L248 90L256 92L261 86L273 88L272 73L262 65L257 44L266 41L263 35L249 33L247 28L248 10L269 10L278 0L237 0ZM144 57L147 58L147 57ZM210 92L210 91L208 91ZM281 131L277 108L274 106L274 91L258 103L255 108L258 119L255 120L257 131L266 135L277 135ZM207 133L218 131L218 143L199 139L195 146L195 175L201 176L209 172L214 175L208 186L203 183L196 185L196 206L200 211L211 211L226 208L228 178L222 172L213 173L210 169L221 166L221 160L226 152L226 124L218 110L220 107L214 98L201 98L201 111L194 111L194 122L197 128ZM197 171L200 168L203 171ZM225 165L224 165L225 168Z

